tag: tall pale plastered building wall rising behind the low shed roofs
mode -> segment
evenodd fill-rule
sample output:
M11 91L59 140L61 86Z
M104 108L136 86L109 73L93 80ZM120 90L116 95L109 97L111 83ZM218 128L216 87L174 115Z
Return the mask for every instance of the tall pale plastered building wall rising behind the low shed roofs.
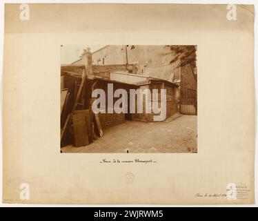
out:
M108 45L92 52L92 65L131 64L134 71L129 73L148 75L159 79L173 81L178 64L170 46ZM83 64L83 59L72 64Z

